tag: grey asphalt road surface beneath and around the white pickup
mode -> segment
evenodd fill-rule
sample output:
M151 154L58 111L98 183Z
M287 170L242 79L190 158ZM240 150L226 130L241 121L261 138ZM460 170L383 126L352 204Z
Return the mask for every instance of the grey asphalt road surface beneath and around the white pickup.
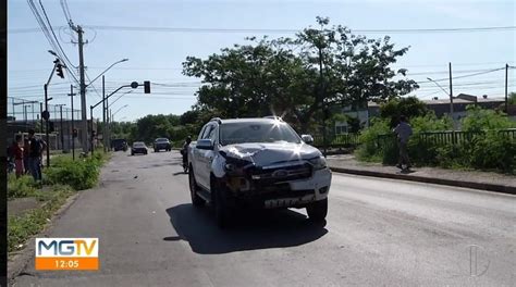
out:
M15 286L515 286L516 197L333 174L325 226L304 210L219 230L189 201L179 152L116 152L51 237L99 237L100 271ZM33 285L30 285L33 284Z

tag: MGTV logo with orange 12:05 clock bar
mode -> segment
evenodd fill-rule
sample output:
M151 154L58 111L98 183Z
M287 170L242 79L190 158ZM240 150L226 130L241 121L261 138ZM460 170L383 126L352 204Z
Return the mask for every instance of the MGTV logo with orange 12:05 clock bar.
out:
M98 238L36 238L36 270L98 270Z

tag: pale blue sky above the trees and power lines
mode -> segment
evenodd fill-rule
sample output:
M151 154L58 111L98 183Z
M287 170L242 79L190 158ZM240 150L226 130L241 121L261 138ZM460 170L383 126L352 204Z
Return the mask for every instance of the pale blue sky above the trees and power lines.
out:
M60 1L41 0L61 46L73 64L78 64L76 45L71 43L70 29ZM37 1L35 1L38 4ZM67 0L75 24L84 26L131 26L221 29L302 29L316 23L316 16L330 17L331 24L352 29L417 29L516 26L514 1L173 1L173 0ZM42 84L52 67L53 57L27 1L8 0L8 84L9 96L42 100ZM138 91L124 95L112 105L120 110L115 120L133 121L147 114L181 114L195 103L199 79L181 74L187 55L205 58L221 48L244 42L246 36L259 33L185 33L85 29L85 65L90 79L111 63L128 58L106 74L107 92L133 80L151 80L167 86L152 86L152 95ZM377 38L384 34L366 34ZM271 37L290 36L270 34ZM490 68L516 65L516 29L477 33L390 34L397 47L410 46L395 67L406 67L409 77L425 82L427 77L447 77L452 62L454 76ZM516 90L515 70L509 70L509 91ZM504 96L504 71L454 80L454 95ZM447 88L447 82L442 82ZM100 100L101 80L88 89L87 105ZM49 89L51 103L70 99L69 79L54 77ZM421 84L415 95L421 99L445 98L432 83ZM112 99L115 99L113 96ZM79 107L78 99L75 108ZM20 108L17 108L20 109ZM89 109L88 109L89 110ZM100 116L101 111L95 113ZM89 114L89 111L88 111Z

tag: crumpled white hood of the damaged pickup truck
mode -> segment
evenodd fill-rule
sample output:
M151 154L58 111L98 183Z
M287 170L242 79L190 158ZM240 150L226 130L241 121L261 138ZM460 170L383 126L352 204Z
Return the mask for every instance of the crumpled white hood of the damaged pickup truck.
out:
M236 144L224 146L220 151L225 154L224 158L244 160L257 166L308 160L321 155L321 152L311 146L292 142Z

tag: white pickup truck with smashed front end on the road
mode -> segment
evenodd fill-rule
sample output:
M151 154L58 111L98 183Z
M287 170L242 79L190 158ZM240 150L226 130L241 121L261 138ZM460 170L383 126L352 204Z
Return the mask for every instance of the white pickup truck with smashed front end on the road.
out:
M247 208L306 208L324 221L332 174L312 141L280 117L212 118L188 147L194 207L210 203L220 227Z

